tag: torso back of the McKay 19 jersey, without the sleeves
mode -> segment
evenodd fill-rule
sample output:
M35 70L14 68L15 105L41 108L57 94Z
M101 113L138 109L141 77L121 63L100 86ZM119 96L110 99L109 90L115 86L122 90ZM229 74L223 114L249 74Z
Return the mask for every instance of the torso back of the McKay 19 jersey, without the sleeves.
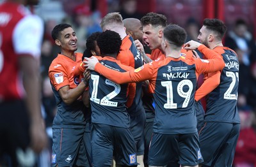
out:
M153 91L156 100L154 132L195 133L196 117L193 108L196 85L195 64L189 64L181 57L179 59L166 57L164 61L152 63L159 66L155 72L156 83Z

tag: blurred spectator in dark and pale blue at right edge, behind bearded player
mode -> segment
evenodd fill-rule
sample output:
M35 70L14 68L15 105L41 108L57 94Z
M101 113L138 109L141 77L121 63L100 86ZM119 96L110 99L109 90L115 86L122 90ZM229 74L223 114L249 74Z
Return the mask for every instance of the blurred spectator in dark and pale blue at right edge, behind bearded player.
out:
M245 66L249 66L250 62L255 60L255 42L243 19L236 20L233 31L230 31L225 39L225 46L236 51Z

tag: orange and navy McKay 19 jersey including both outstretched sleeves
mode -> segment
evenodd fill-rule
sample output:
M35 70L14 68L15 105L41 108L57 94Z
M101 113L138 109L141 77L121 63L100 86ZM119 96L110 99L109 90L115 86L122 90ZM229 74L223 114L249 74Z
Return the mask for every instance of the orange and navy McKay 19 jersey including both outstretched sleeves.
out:
M221 56L213 50L204 45L198 50L207 55L208 60L166 57L125 73L97 63L95 71L116 83L149 80L149 90L156 101L155 133L196 133L194 98L198 75L225 66Z

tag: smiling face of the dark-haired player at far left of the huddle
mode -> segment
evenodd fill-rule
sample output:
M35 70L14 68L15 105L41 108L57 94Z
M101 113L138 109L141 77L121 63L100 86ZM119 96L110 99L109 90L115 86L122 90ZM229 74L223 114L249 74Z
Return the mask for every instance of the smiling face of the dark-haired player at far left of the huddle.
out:
M61 31L61 50L65 50L65 52L74 52L77 50L77 37L76 32L72 29L72 27L68 27Z

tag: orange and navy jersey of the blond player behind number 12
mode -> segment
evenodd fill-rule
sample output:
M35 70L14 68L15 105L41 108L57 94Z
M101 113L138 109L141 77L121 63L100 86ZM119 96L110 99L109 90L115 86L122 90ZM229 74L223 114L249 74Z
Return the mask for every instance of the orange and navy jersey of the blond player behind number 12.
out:
M131 66L132 68L139 68L143 65L143 58L140 51L137 50L136 45L131 36L127 35L122 40L122 45L120 47L120 52L117 55L118 59L122 64L126 66ZM136 83L136 95L131 107L128 108L128 112L132 117L140 115L141 112L145 112L143 104L141 101L142 94L142 83Z

